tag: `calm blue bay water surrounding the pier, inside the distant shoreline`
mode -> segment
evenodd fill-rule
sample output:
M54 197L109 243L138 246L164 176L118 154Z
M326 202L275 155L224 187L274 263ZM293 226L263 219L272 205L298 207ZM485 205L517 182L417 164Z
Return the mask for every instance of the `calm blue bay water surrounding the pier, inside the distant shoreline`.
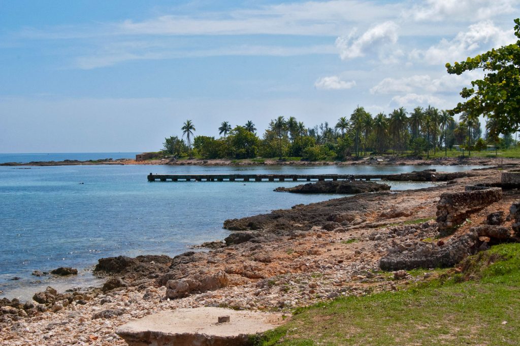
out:
M225 219L266 213L331 195L272 191L298 183L147 182L153 173L399 173L475 167L170 167L150 165L0 167L0 290L27 298L51 284L96 284L89 271L73 279L36 278L33 270L86 269L101 257L176 255L187 246L223 239ZM80 184L83 183L83 184ZM301 184L301 183L300 183ZM393 189L432 186L390 183ZM10 280L19 276L18 281ZM37 282L41 280L42 282Z

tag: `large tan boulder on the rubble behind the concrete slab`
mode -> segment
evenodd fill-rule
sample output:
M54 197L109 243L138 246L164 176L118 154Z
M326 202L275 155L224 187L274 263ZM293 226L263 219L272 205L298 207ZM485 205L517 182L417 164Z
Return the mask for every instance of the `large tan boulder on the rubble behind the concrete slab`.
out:
M186 297L193 292L206 292L226 287L229 284L228 275L222 270L213 274L197 273L180 280L170 280L166 283L166 297Z

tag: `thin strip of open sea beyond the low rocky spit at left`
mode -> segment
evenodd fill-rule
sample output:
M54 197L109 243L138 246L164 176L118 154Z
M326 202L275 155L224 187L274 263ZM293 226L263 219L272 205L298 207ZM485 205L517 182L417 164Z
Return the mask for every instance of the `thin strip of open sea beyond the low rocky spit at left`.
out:
M97 160L97 159L135 159L140 153L49 153L49 154L0 154L0 163L5 162L36 162L63 160Z

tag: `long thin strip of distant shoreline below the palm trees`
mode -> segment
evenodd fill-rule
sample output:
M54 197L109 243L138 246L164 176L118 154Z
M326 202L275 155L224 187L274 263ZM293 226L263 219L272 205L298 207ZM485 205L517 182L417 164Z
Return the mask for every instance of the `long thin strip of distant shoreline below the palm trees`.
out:
M63 160L63 161L32 161L32 162L4 162L0 166L20 167L46 167L46 166L64 166L64 165L200 165L200 166L279 166L279 165L295 165L295 166L323 166L323 165L498 165L502 163L516 163L518 159L514 158L482 158L482 157L440 157L435 159L417 159L402 158L394 156L367 157L359 160L349 161L290 161L277 159L187 159L187 160L168 160L155 159L136 161L134 159L98 159L98 160Z

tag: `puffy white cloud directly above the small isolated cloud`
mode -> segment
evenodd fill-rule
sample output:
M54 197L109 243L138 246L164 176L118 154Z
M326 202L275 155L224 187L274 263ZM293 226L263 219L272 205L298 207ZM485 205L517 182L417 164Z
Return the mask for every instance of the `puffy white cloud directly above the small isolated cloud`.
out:
M336 47L342 60L363 57L369 50L381 51L396 44L398 29L399 26L393 21L375 25L360 36L357 36L357 29L353 29L347 36L336 39Z

